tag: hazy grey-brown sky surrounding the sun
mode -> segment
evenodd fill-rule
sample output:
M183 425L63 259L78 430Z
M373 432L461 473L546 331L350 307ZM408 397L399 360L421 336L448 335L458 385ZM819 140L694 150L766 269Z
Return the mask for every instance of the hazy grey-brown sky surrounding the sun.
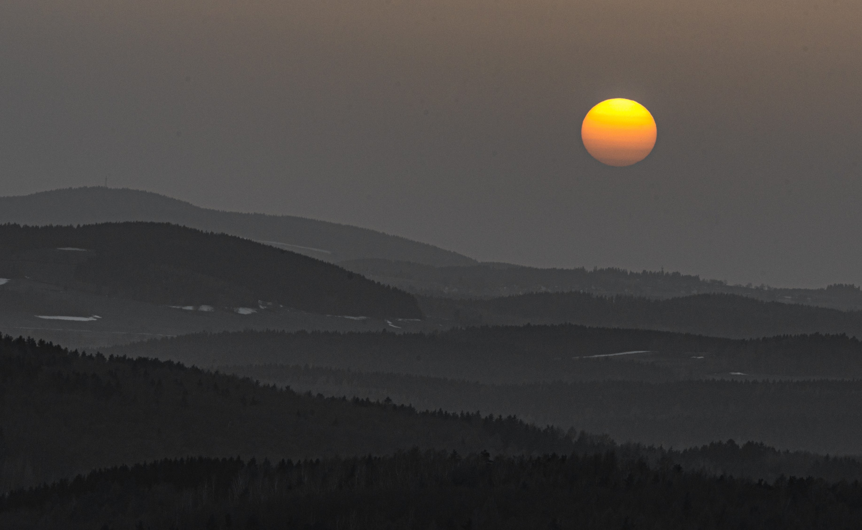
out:
M858 0L0 3L0 195L103 184L540 266L862 284ZM590 158L647 106L646 160Z

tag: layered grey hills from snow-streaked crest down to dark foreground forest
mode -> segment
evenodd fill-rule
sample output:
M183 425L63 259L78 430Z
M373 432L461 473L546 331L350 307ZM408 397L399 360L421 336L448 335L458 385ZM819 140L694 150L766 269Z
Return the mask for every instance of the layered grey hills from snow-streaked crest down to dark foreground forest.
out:
M755 440L862 454L862 342L729 340L596 327L436 334L197 334L109 348L325 396L517 415L614 440L684 448Z

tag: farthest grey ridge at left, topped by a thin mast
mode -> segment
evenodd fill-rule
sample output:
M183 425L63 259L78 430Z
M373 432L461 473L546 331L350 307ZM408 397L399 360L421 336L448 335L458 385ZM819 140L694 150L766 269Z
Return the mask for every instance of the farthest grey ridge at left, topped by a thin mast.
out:
M437 246L368 228L292 215L206 209L150 191L104 187L66 188L0 197L0 224L78 225L101 222L170 222L257 240L316 259L400 259L427 265L478 263Z

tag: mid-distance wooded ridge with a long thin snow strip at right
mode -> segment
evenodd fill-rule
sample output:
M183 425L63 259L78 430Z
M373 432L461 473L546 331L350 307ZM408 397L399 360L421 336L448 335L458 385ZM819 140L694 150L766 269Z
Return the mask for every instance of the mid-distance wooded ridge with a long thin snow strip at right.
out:
M862 342L846 335L730 340L574 325L471 327L434 334L191 334L105 350L190 365L311 365L466 379L668 381L729 375L862 378ZM619 353L634 352L628 355Z

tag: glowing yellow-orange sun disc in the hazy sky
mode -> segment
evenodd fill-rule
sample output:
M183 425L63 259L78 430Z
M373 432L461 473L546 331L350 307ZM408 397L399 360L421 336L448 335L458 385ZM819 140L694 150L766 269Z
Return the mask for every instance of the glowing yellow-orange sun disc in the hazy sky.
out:
M655 120L646 107L630 99L607 99L590 109L581 139L593 158L623 167L647 158L655 146Z

